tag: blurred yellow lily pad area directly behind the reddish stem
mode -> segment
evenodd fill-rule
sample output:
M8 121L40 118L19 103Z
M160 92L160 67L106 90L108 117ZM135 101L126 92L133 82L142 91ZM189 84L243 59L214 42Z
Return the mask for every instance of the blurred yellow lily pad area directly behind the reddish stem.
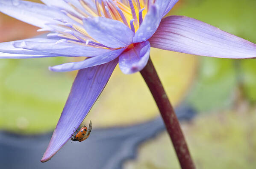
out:
M197 58L153 48L150 54L167 95L176 106L190 89ZM120 69L115 69L86 119L100 126L113 126L138 123L158 115L156 104L141 74L124 75Z

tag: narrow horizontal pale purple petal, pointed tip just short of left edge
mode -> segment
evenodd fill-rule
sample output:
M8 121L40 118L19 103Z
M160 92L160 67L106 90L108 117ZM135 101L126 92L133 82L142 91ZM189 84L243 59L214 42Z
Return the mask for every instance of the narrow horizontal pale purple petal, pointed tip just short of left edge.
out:
M110 51L109 49L94 48L68 42L56 44L55 42L21 41L13 43L13 46L38 52L48 52L59 56L93 57Z

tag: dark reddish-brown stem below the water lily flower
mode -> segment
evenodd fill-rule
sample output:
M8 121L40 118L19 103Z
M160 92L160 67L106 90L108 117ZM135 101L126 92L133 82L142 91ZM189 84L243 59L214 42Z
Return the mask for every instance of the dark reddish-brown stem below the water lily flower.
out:
M148 63L144 69L141 70L141 75L147 83L147 86L149 87L150 92L156 101L158 109L165 122L167 132L170 135L174 145L181 168L195 169L194 162L188 151L188 146L186 144L185 137L182 134L177 116L150 59L148 60Z

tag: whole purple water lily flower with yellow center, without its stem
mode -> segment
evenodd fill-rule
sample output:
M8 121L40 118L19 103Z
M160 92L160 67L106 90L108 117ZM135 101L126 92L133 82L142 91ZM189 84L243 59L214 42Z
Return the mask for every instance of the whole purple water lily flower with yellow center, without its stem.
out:
M49 67L79 70L42 162L69 140L119 63L141 71L150 47L222 58L256 57L256 44L185 16L163 18L178 0L0 0L0 11L50 31L45 38L0 43L0 58L87 57Z

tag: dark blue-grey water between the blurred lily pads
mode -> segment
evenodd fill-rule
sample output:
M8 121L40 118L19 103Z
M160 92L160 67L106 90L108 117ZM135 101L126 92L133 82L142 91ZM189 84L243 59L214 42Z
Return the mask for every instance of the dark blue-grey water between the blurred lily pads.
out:
M189 106L177 109L179 120L190 120ZM121 169L124 160L135 158L140 143L165 130L160 117L133 126L93 129L84 142L68 141L48 162L40 159L52 133L22 136L0 132L0 169Z

